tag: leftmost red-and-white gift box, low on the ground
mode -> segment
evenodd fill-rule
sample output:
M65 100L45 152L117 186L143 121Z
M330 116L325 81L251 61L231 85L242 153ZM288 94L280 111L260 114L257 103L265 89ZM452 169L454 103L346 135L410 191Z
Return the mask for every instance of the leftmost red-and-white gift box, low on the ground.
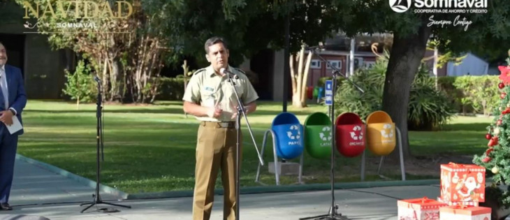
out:
M439 207L447 205L423 197L398 200L397 206L398 220L439 220Z

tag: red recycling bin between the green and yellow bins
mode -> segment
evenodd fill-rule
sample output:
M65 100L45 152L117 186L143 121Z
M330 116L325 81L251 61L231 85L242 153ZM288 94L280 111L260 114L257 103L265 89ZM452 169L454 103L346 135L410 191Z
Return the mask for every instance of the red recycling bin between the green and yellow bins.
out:
M337 117L336 123L337 150L343 156L354 157L365 151L365 124L360 117L346 112Z

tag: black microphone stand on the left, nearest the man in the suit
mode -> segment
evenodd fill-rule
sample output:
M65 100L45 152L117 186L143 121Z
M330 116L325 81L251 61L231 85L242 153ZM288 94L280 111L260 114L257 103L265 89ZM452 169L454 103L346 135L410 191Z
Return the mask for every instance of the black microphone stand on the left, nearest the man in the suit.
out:
M80 204L80 206L89 205L84 210L82 210L81 213L85 212L85 210L88 210L90 207L92 207L93 205L97 205L97 204L115 205L115 206L126 207L126 208L131 209L131 206L129 206L129 205L117 205L117 204L113 204L113 203L103 202L103 200L101 200L101 196L99 196L99 183L100 183L99 173L101 173L101 163L99 162L101 155L99 154L99 150L101 149L101 152L102 152L103 147L104 147L104 145L103 145L103 121L102 121L103 117L101 114L101 109L102 109L101 103L103 101L101 94L103 91L101 89L101 80L99 80L99 78L97 78L97 76L94 78L94 80L96 80L96 82L97 82L97 91L98 91L97 92L97 103L96 103L97 104L97 108L96 108L96 117L97 117L96 193L92 194L92 196L94 197L94 200L92 202ZM103 153L103 161L104 161L104 153ZM119 210L108 209L108 208L102 208L102 209L97 209L97 210L101 211L101 212L119 212Z

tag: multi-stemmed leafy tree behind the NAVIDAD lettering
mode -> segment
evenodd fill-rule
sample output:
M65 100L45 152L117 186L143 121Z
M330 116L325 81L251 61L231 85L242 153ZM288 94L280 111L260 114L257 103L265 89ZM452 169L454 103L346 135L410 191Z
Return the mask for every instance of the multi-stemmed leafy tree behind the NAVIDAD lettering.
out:
M166 47L140 0L16 1L55 49L71 48L89 60L103 82L105 99L154 101Z

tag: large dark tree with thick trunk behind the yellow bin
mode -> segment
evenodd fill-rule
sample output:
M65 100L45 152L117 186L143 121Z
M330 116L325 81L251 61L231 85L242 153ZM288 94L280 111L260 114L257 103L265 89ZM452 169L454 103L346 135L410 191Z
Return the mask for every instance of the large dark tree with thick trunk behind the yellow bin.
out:
M411 1L414 2L414 1ZM411 82L425 54L429 39L439 42L439 50L448 48L452 52L499 50L501 44L510 36L510 5L502 0L489 1L488 13L462 15L449 13L414 13L411 6L405 13L395 13L388 1L331 1L331 7L338 9L336 27L348 36L360 33L393 34L391 57L384 84L382 110L395 121L402 131L405 156L409 156L407 135L407 106ZM465 27L441 27L429 25L434 20L451 20L456 16L471 21ZM449 42L446 44L446 42ZM394 155L398 156L398 155Z

